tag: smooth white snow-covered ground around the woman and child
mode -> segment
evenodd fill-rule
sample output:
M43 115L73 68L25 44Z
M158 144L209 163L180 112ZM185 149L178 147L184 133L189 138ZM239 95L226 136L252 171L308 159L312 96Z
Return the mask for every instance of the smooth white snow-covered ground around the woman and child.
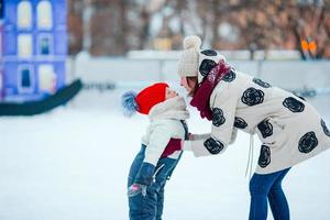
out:
M0 118L0 220L128 219L127 175L147 120L124 118L119 95L80 95L47 114ZM311 102L330 124L329 96ZM195 133L210 129L196 112L188 124ZM164 220L248 219L248 152L240 132L222 155L185 153L165 189ZM293 220L330 219L330 151L294 167L284 189Z

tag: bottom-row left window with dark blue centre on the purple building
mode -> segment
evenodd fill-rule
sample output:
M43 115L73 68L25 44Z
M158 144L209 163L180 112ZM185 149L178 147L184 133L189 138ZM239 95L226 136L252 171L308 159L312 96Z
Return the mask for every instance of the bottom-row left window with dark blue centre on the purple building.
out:
M33 73L31 65L22 65L19 67L18 88L19 92L26 94L33 91Z

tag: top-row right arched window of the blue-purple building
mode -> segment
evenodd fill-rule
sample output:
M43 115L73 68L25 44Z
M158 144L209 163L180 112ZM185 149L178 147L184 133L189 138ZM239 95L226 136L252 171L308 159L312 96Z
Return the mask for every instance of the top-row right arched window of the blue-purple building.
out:
M36 19L37 28L40 29L52 29L53 28L53 13L52 4L50 1L43 0L37 4Z

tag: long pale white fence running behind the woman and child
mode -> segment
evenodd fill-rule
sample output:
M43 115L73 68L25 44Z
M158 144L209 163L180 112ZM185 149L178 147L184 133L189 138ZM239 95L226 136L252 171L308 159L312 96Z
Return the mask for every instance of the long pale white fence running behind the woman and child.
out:
M329 88L330 62L228 61L235 69L275 86L298 89ZM72 77L86 84L178 81L176 59L78 58L70 61Z

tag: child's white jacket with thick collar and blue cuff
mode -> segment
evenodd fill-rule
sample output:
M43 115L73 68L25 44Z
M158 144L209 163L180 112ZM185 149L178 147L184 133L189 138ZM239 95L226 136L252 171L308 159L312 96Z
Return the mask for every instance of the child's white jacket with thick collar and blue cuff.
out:
M152 182L155 167L161 157L177 160L182 153L182 144L185 140L185 121L189 112L182 97L175 97L154 106L150 113L150 125L142 138L142 144L146 145L145 157L135 183L148 185Z

